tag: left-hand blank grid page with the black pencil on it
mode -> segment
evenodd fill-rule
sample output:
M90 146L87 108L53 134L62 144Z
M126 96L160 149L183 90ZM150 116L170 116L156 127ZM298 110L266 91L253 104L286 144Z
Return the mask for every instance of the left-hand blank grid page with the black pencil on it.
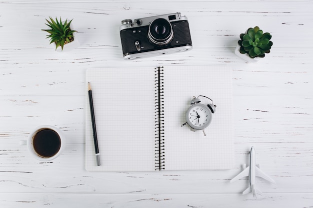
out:
M88 82L101 165L95 162L86 93L86 170L154 171L154 68L88 69Z

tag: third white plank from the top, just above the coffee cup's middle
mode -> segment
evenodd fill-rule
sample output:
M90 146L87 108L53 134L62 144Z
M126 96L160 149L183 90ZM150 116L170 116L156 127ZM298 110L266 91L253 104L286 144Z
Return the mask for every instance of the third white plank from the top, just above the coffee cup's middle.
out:
M1 96L2 142L25 139L36 126L50 124L68 132L69 143L84 143L85 98L66 97ZM312 95L241 95L233 100L235 141L311 142Z

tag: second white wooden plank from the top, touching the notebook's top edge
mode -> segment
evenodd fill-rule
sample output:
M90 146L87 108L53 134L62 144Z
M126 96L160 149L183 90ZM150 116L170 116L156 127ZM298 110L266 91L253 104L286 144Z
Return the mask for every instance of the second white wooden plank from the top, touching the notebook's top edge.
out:
M84 95L85 70L91 67L155 67L159 65L229 65L233 69L234 95L311 94L312 71L309 48L274 48L257 64L245 62L234 48L193 48L191 51L125 61L121 49L77 49L60 54L44 49L0 50L1 95ZM86 52L88 51L88 52ZM90 52L89 52L90 51ZM10 55L11 54L11 55ZM14 81L15 80L15 81ZM18 80L18 81L17 81Z

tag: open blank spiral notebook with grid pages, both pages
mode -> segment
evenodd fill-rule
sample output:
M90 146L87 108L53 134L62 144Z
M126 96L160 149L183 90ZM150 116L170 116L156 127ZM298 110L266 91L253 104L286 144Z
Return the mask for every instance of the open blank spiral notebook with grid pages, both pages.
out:
M231 77L231 69L225 66L88 69L86 170L231 169ZM95 160L88 82L92 88L101 166L96 166ZM212 121L205 129L206 136L202 131L191 131L188 125L181 127L192 97L198 95L211 98L216 105Z

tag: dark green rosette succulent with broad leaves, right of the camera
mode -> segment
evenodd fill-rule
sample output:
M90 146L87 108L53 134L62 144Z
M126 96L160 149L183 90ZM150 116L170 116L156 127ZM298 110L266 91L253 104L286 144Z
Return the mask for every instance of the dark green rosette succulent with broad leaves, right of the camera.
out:
M238 45L240 45L240 53L247 53L250 58L260 57L263 58L265 53L269 53L272 46L272 41L270 41L271 34L268 32L263 33L258 26L254 28L248 28L246 33L240 34L240 40L238 40Z

